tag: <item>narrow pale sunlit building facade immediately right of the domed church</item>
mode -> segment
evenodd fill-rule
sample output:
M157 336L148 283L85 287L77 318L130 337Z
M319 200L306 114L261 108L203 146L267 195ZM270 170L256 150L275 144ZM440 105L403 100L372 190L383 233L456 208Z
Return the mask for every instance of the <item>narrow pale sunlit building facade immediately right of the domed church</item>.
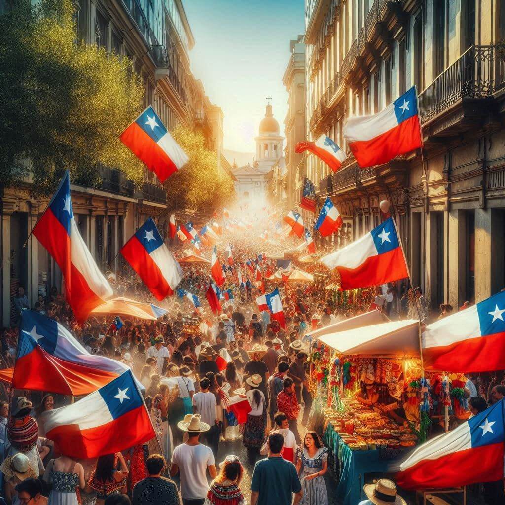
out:
M306 139L305 124L305 44L304 35L289 43L291 56L284 71L282 83L288 93L288 111L284 119L284 163L286 168L286 209L292 209L300 200L304 182L304 156L294 152L294 146Z

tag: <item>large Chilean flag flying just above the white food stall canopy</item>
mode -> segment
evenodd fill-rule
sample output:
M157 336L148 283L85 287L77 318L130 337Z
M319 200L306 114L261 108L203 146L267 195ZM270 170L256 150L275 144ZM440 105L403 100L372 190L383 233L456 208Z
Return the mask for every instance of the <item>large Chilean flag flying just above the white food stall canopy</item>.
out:
M330 270L338 270L343 290L409 277L392 218L320 261Z

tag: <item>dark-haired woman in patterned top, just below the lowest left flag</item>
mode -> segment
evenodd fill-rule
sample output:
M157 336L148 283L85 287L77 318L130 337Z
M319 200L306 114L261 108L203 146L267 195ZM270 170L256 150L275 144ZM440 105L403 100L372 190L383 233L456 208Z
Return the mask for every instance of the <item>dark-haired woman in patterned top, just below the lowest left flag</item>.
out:
M105 499L126 486L128 467L121 452L100 456L91 472L86 492L96 491L95 505L104 505Z

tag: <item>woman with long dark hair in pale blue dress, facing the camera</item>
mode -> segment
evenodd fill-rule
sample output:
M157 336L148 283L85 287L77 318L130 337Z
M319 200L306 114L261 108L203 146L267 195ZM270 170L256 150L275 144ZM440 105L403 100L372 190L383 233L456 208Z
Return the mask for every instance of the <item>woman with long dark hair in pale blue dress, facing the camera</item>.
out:
M323 475L328 470L328 449L323 447L318 434L308 431L301 455L296 462L298 473L303 468L301 488L304 495L301 505L328 505L328 491Z

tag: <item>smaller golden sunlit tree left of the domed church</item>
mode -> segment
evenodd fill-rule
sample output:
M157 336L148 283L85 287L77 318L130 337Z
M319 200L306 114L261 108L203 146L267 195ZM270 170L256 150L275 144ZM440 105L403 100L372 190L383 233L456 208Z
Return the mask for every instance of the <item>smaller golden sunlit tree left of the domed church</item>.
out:
M235 197L233 181L224 170L218 169L217 155L205 147L203 134L180 125L171 134L189 161L165 181L169 210L211 212L229 205Z

